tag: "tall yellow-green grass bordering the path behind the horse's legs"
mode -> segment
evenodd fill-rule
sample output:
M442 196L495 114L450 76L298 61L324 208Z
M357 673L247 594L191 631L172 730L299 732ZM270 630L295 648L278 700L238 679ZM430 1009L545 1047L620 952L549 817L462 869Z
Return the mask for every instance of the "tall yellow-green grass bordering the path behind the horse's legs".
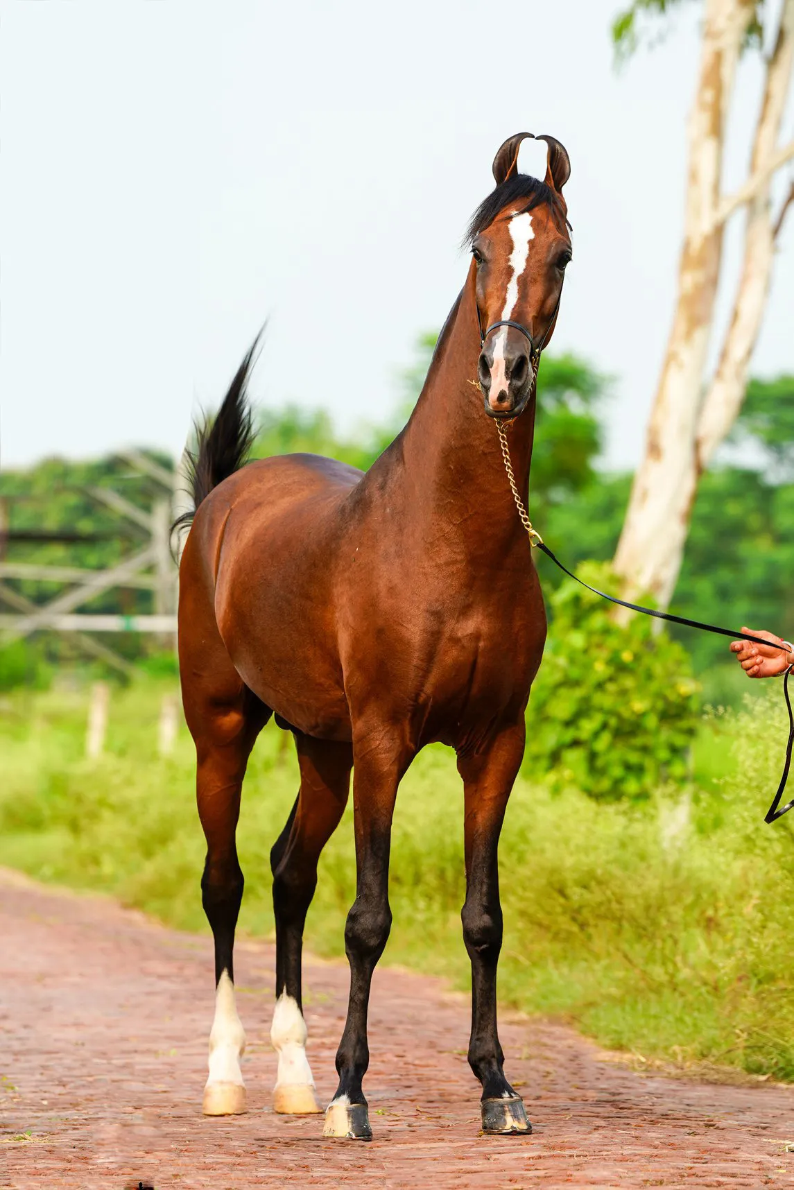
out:
M0 862L204 929L192 745L182 728L173 757L157 757L163 689L149 681L113 693L107 752L93 763L82 754L86 691L2 703ZM599 803L518 782L501 843L504 1001L648 1057L794 1079L794 839L788 818L762 822L784 739L779 699L775 685L756 709L701 729L701 771L719 769L731 738L738 756L720 784L690 791L688 828L681 790L643 804ZM257 744L238 834L240 928L264 935L273 929L268 852L296 789L281 740L269 726ZM310 912L307 944L326 954L344 950L351 837L348 814ZM467 987L462 793L443 749L423 753L401 787L390 900L385 962Z

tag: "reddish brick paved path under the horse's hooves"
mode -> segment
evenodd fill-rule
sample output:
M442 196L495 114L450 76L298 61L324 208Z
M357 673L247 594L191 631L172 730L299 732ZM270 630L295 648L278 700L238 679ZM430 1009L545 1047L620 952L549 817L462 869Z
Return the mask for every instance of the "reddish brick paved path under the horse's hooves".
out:
M468 1004L379 970L370 1145L324 1141L321 1117L270 1110L273 952L238 946L250 1111L205 1120L211 942L111 902L0 872L0 1188L788 1186L794 1089L643 1077L569 1029L505 1021L530 1138L477 1134ZM306 970L310 1058L336 1085L346 966Z

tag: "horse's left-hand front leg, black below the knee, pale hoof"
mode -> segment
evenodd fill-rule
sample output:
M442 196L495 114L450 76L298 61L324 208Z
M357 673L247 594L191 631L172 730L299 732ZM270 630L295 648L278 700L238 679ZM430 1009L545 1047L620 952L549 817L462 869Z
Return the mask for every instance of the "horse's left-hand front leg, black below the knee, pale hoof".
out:
M345 925L350 964L348 1020L337 1051L339 1085L325 1113L324 1136L371 1140L362 1081L369 1065L367 1012L375 965L392 928L389 848L400 777L408 764L399 747L354 739L356 900Z

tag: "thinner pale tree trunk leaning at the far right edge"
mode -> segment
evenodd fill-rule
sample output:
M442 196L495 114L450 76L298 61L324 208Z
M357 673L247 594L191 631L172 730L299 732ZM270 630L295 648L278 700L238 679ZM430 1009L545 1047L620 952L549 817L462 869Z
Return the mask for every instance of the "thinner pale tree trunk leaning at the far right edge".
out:
M752 148L751 174L762 173L775 154L794 67L794 0L786 0L777 40L769 60L767 84ZM706 394L695 441L695 482L725 439L742 408L752 350L763 319L780 225L773 220L770 181L748 206L744 261L733 317L719 364Z

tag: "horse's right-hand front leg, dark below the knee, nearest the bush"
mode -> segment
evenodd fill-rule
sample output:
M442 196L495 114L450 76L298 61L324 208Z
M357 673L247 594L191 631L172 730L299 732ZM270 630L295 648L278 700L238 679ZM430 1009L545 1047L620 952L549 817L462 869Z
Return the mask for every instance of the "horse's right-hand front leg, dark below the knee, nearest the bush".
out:
M521 1097L505 1078L496 1032L496 965L502 942L499 834L524 754L524 722L496 735L479 754L458 756L464 788L465 904L463 939L471 959L469 1065L482 1083L482 1130L527 1133Z

